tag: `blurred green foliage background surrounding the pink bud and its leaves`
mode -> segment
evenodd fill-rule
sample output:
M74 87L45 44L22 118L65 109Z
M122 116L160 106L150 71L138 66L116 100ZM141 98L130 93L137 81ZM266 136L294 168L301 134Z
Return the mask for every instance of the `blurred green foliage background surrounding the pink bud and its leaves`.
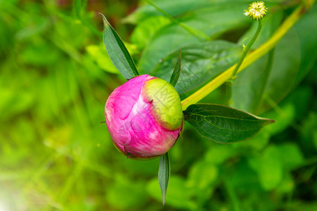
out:
M0 210L317 210L316 4L233 85L230 106L275 124L230 145L186 124L170 151L163 207L159 159L125 158L99 123L108 95L125 80L102 44L98 13L116 28L142 74L160 75L161 59L188 45L203 47L187 51L187 64L221 72L237 61L255 28L242 15L249 1L154 2L231 49L209 55L205 43L144 1L0 0ZM254 48L299 3L267 1L271 12ZM256 87L263 78L265 86ZM204 102L228 104L226 87Z

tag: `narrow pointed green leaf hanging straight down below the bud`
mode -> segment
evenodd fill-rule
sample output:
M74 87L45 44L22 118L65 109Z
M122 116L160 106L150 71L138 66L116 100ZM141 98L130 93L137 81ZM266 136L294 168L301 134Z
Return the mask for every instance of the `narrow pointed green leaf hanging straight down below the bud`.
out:
M170 158L168 153L165 153L160 158L160 167L159 167L159 184L161 188L163 205L166 200L166 191L168 187L168 180L170 179Z

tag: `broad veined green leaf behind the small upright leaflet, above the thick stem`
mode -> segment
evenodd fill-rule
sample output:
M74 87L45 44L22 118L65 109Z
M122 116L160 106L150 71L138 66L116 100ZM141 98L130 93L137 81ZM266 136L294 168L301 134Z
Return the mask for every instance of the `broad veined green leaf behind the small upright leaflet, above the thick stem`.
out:
M240 58L242 46L229 41L206 41L182 49L182 72L175 89L181 95L199 87L230 68ZM179 51L164 58L150 73L168 81L173 72Z

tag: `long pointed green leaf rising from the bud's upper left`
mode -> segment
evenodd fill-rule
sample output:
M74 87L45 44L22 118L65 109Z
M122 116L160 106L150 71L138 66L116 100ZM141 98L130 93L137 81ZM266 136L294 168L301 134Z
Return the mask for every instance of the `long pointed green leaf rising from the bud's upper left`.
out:
M104 15L102 15L102 19L104 20L104 46L106 47L113 65L115 65L118 71L126 79L131 79L132 77L139 75L135 62L125 47L125 44L123 44L122 39L113 27L111 27Z

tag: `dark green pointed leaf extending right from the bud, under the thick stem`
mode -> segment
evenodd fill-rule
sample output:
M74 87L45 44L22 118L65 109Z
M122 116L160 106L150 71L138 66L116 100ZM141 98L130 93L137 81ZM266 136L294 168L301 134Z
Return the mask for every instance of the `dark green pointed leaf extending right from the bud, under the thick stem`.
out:
M216 104L194 104L184 112L185 120L208 139L233 143L251 138L274 120Z

